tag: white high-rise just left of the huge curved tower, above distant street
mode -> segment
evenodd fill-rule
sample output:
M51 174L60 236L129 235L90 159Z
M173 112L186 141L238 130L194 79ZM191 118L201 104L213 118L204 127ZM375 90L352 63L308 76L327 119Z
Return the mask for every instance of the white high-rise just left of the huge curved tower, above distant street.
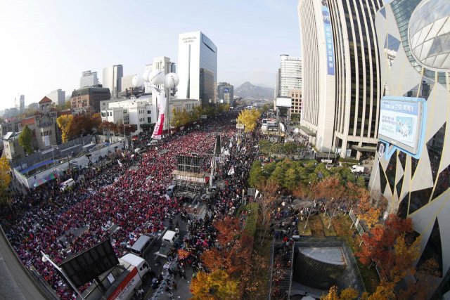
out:
M302 59L281 54L276 77L276 97L289 96L292 89L302 89Z

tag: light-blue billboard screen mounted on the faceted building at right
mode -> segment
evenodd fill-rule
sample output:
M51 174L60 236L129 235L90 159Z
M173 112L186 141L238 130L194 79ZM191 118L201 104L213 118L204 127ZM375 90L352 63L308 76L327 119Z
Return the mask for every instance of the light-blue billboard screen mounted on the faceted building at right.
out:
M378 138L416 155L423 132L425 104L423 98L383 97Z

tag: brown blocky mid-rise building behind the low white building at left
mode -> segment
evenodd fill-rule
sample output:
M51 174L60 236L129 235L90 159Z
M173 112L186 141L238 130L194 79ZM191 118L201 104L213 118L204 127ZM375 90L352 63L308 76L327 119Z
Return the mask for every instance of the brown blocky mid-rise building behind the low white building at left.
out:
M91 106L93 112L100 112L100 102L110 100L111 94L108 88L87 87L72 91L70 104L72 110L86 109Z

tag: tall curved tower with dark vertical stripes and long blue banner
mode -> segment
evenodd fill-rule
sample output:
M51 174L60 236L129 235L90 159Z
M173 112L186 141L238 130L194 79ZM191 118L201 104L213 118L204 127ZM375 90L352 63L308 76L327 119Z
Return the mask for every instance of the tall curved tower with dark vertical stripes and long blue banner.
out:
M300 0L302 131L321 152L373 155L380 63L374 17L381 0Z

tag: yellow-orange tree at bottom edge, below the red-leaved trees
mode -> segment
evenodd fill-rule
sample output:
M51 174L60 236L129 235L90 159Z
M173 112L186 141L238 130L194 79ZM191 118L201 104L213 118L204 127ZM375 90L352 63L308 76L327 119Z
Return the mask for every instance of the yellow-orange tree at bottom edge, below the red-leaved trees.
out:
M238 299L238 281L233 280L224 270L215 270L209 275L199 272L191 282L194 300Z

